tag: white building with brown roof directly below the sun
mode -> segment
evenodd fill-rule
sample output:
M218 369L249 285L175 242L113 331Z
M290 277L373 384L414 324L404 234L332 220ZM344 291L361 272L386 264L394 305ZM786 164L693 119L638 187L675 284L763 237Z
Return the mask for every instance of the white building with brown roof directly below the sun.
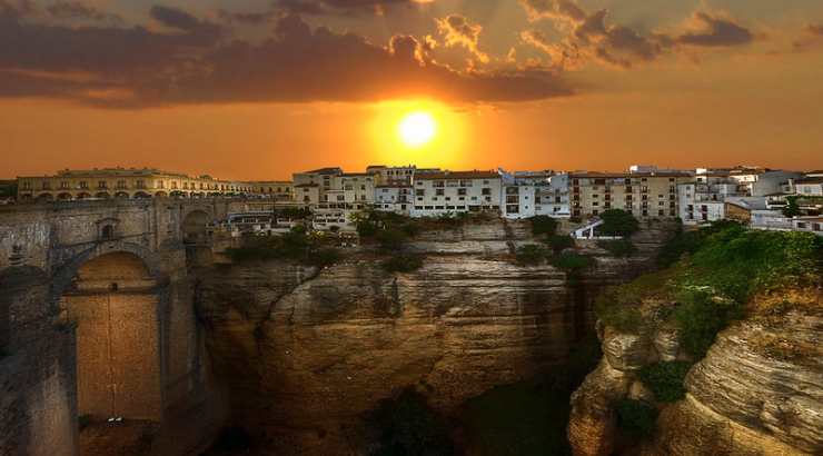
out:
M413 217L500 210L502 179L495 171L442 171L415 175Z

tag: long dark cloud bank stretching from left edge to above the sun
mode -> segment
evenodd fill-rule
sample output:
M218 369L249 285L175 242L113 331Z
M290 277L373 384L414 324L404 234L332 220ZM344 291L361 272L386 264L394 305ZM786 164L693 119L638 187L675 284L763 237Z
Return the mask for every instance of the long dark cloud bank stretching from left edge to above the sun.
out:
M436 46L395 36L378 46L300 17L275 23L260 43L204 39L214 24L153 8L175 30L68 28L20 21L0 27L0 97L70 98L99 107L175 103L520 101L572 93L552 71L463 73L426 56ZM194 20L192 20L194 19ZM215 37L211 33L210 37Z

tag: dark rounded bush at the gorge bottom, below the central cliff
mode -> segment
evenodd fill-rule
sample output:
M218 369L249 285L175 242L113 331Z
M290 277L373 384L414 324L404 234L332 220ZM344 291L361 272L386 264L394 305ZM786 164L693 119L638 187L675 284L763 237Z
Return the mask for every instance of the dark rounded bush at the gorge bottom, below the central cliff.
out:
M450 456L457 454L443 417L412 388L384 399L370 417L379 429L375 456Z

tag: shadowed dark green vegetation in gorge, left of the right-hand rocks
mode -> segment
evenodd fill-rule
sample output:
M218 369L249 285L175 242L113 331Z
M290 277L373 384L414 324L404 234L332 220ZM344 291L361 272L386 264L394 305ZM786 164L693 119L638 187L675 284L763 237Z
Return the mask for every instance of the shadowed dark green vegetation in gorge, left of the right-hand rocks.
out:
M568 398L601 356L599 341L589 335L574 347L565 365L467 400L460 406L466 439L486 456L571 456Z

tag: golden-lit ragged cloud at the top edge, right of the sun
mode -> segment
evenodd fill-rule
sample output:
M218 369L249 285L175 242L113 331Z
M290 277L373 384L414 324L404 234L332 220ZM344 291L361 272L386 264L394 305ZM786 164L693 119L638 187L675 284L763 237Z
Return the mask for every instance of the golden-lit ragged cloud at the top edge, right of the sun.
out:
M644 37L625 26L606 26L606 8L589 14L576 0L520 0L520 3L533 19L555 19L558 28L569 32L558 42L549 42L538 30L520 33L523 42L545 50L552 56L552 66L564 69L581 69L592 61L628 69L677 52L681 47L731 47L754 39L751 30L734 20L704 11L695 12L691 19L691 27L698 32Z

